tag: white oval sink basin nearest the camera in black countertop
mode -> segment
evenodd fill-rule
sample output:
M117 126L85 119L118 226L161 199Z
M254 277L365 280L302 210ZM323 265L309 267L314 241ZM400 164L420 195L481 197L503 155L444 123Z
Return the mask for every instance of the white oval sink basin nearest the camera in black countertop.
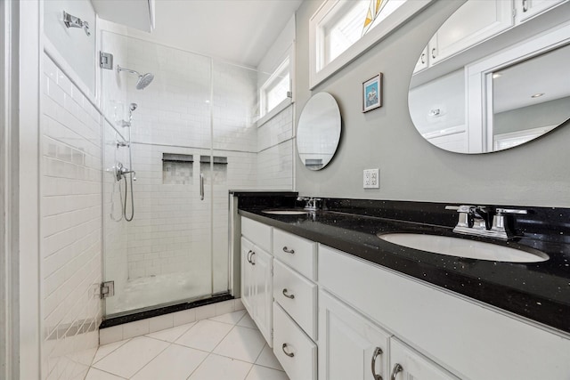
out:
M545 253L527 248L498 246L483 241L451 238L419 233L379 233L378 237L398 246L419 249L434 254L507 263L538 263L549 259Z

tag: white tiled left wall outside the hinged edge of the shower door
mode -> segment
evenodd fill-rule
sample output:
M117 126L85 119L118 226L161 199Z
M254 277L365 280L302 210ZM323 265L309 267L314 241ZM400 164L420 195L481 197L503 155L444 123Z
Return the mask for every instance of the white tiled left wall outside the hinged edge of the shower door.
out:
M41 125L42 378L83 378L102 309L101 118L46 55Z

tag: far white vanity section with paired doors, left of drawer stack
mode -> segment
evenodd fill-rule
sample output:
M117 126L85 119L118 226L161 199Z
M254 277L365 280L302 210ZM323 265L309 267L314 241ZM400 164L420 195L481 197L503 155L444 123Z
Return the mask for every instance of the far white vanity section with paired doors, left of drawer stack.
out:
M241 218L241 302L269 346L273 346L272 228Z

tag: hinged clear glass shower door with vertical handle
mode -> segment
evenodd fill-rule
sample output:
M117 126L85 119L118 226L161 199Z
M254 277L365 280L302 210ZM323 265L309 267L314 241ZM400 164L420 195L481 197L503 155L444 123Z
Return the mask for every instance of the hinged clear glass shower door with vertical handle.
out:
M109 318L224 293L227 283L215 290L212 270L211 59L106 31L102 46L113 54L115 66L102 69L109 170L103 179L103 276L115 287L105 314ZM117 66L151 72L154 80L139 90L139 77L118 72ZM132 103L136 109L129 114ZM132 162L129 146L123 146L129 128ZM130 181L117 181L112 168L118 162L136 172L131 222L122 212L126 209L127 217L133 212ZM227 273L227 260L216 271Z

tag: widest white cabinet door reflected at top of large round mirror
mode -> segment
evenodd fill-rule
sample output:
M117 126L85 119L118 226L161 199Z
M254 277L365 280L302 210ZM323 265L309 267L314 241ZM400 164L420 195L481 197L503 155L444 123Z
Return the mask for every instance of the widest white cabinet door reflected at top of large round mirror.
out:
M429 64L490 38L513 24L510 1L469 0L452 14L429 42Z

